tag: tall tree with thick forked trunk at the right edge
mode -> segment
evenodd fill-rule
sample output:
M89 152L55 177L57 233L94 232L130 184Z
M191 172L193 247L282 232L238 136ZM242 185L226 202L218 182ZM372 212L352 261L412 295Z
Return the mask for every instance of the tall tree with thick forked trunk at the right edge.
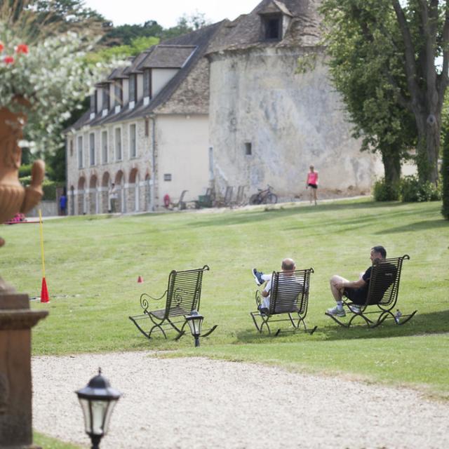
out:
M420 182L436 184L441 110L449 81L449 1L323 0L323 11L331 23L332 17L335 24L355 18L363 28L372 46L370 58L382 67L395 102L414 116ZM328 32L336 30L332 25Z

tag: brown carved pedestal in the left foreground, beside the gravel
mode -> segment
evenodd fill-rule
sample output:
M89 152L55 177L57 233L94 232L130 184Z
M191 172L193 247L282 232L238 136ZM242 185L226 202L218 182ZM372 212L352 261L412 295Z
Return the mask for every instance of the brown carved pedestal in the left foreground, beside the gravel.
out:
M32 436L31 328L48 311L28 295L0 293L0 448L38 449Z

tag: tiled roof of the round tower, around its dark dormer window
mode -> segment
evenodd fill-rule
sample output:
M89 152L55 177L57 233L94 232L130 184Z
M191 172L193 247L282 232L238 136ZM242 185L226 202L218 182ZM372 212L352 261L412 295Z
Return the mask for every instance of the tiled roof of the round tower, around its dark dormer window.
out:
M316 46L320 39L321 0L262 0L249 14L228 22L208 53L244 50L254 47ZM281 13L291 18L281 41L266 41L261 36L261 15Z

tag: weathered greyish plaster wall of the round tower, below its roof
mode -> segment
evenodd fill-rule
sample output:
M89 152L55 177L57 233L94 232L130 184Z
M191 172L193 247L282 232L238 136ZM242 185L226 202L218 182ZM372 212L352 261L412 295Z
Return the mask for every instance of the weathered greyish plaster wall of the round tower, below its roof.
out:
M314 164L322 188L368 192L382 173L378 159L350 137L326 67L319 62L313 72L295 74L298 55L258 48L210 57L210 145L221 191L248 185L252 193L269 184L293 197Z

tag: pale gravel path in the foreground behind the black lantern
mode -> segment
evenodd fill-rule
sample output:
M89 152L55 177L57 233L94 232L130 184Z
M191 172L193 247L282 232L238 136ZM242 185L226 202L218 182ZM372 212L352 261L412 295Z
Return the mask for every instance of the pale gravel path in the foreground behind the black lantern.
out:
M410 389L145 352L32 358L33 427L83 445L74 390L123 392L102 449L449 448L449 404Z

